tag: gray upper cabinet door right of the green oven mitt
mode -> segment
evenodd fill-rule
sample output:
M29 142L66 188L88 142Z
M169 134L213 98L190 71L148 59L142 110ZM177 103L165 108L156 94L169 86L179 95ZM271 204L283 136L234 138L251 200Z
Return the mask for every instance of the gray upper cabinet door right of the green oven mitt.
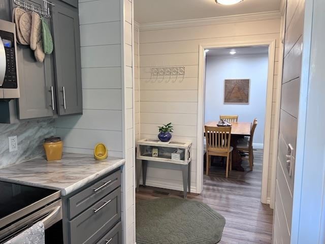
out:
M53 1L52 26L58 114L82 113L78 9Z

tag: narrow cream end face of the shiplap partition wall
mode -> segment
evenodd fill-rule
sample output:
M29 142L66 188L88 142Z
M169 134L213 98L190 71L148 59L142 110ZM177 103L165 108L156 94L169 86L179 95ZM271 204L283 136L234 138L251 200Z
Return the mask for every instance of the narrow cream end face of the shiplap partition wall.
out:
M124 145L125 155L125 214L126 221L123 223L124 243L134 244L135 239L135 112L134 112L134 26L133 26L133 1L124 1L124 85L123 85L123 104L125 109L124 116ZM123 83L123 82L122 82Z

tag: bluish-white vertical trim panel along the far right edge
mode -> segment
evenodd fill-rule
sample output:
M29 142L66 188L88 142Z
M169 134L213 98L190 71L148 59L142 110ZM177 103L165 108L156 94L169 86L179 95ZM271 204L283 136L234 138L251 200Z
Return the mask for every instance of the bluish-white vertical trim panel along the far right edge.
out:
M325 2L305 4L302 72L290 243L325 243L323 121ZM312 126L310 126L312 125Z

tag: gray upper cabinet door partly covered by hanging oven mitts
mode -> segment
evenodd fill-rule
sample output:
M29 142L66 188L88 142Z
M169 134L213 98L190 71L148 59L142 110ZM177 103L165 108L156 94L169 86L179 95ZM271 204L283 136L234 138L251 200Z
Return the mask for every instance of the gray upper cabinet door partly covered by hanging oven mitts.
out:
M42 7L43 1L33 0L32 4ZM16 7L14 1L12 7ZM50 19L46 20L50 27ZM17 60L20 86L19 118L53 116L56 109L53 55L45 55L44 62L40 63L36 61L34 51L29 46L17 44Z

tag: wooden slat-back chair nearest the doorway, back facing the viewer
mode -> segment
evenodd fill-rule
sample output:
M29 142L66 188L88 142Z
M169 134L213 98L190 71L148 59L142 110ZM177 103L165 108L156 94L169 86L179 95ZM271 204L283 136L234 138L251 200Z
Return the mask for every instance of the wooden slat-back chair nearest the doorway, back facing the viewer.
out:
M233 147L230 146L231 131L231 127L205 126L205 137L207 143L207 175L209 174L209 167L211 165L211 156L220 156L226 157L225 177L228 178L228 171L232 168Z

